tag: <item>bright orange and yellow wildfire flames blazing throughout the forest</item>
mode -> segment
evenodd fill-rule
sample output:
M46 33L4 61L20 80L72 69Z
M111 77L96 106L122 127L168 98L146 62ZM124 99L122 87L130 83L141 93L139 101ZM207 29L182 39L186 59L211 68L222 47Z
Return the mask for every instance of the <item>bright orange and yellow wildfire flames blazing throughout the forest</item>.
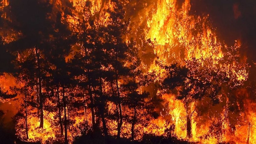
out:
M4 4L4 7L9 5L7 0L2 3ZM122 15L121 12L115 15L116 21L112 20L113 17L111 17L111 13L114 13L119 7L119 5L115 5L115 1L112 0L69 0L69 3L73 8L70 8L69 10L71 14L67 15L65 15L65 11L67 11L67 9L64 8L66 5L69 5L67 2L62 0L51 0L50 3L54 5L54 7L52 14L49 14L48 17L52 19L55 17L55 19L57 19L56 15L60 12L61 23L67 24L72 34L74 33L74 35L79 35L76 39L82 39L72 45L70 44L72 48L70 51L64 52L64 59L65 63L69 63L76 59L76 57L80 56L84 58L79 59L81 61L83 60L84 65L91 66L90 68L92 68L92 70L84 69L83 74L80 76L74 76L74 79L76 80L86 81L84 82L84 86L89 90L85 90L80 86L71 88L68 84L66 87L64 84L60 85L59 81L62 81L61 78L57 78L57 80L45 78L45 81L42 81L42 84L45 86L41 88L41 93L45 101L45 105L42 106L43 109L41 109L44 112L43 127L40 127L40 115L38 110L40 108L38 104L38 101L40 101L39 86L36 85L26 88L23 91L20 90L21 92L18 93L20 95L19 102L20 105L26 105L26 109L21 109L18 112L20 115L15 117L17 120L15 127L16 135L19 139L29 142L40 141L42 143L53 143L55 141L64 142L64 135L67 135L68 141L73 142L75 137L82 136L83 132L89 131L94 127L93 121L100 127L103 127L102 115L106 113L105 115L108 115L109 118L106 118L105 123L106 127L108 127L108 133L111 136L118 135L117 129L121 123L121 137L130 138L130 131L132 127L134 129L141 130L138 130L139 132L136 133L136 140L141 140L145 133L153 133L157 136L174 136L178 139L185 139L201 144L217 144L219 142L230 142L232 144L256 143L256 103L249 100L248 92L246 90L238 88L239 86L244 85L245 81L247 81L249 77L247 58L242 58L241 56L241 47L243 46L242 42L240 40L236 40L234 41L233 46L227 46L225 41L217 37L217 30L211 25L211 21L209 20L210 15L196 16L190 14L190 0L185 0L184 2L179 2L177 0L154 0L154 2L145 2L140 7L140 10L135 8L133 9L135 11L134 13L138 15L129 15L130 13L126 11L129 10L129 7L136 7L140 5L139 2L134 3L130 1L122 1L120 2L120 5L124 5L125 13L123 15L124 20L120 21L118 21L118 16ZM235 17L241 17L238 5L234 5L233 8L234 11L236 11ZM5 14L3 14L2 17L5 17ZM100 29L101 27L105 26L104 28L107 29L111 27L113 23L120 22L121 24L134 24L136 21L138 21L138 27L133 28L128 26L127 29L129 30L127 30L126 33L124 32L125 35L121 36L121 40L116 40L113 38L114 36L108 37L106 36L107 34L100 33L101 31L104 31L104 29ZM125 27L122 26L120 27ZM56 28L55 31L58 32L60 29L61 28ZM115 28L111 27L111 30L113 29ZM100 36L97 37L92 35L88 31L99 32ZM11 41L15 41L16 37L21 35L20 32L17 32L16 35L14 35L13 32L14 31L11 32L12 35L5 37L6 44ZM87 35L86 32L89 34ZM97 37L99 40L90 43L92 36ZM58 36L56 37L56 39L59 38ZM148 58L150 59L150 63L143 61L142 59L142 63L140 63L139 67L142 69L141 71L144 72L142 76L145 76L146 74L154 75L152 76L154 78L151 82L157 86L155 86L155 90L152 90L154 91L152 93L155 94L150 94L149 99L158 97L162 100L154 109L159 114L157 118L150 119L147 124L139 123L135 126L133 125L133 122L131 122L132 120L130 120L131 116L129 114L135 113L134 115L138 114L141 116L143 111L145 111L145 109L141 108L143 106L139 107L139 112L136 113L136 107L133 111L130 106L123 106L120 104L121 100L125 101L128 99L126 97L129 94L125 93L128 90L123 87L128 83L126 81L132 78L129 77L130 75L118 76L117 70L114 71L114 69L117 69L114 67L114 64L109 64L111 62L108 62L105 58L103 58L102 63L98 64L98 61L95 58L96 56L90 55L97 53L98 55L108 54L109 57L114 57L114 54L117 54L117 51L109 50L108 44L116 44L118 41L125 41L126 43L129 43L132 41L130 40L131 37L136 41L134 47L138 49L140 53L139 56L143 57L143 54L146 54L147 51L153 51L154 53L152 54L153 57ZM106 41L105 39L111 40L111 42L107 43L107 46L104 44L102 45L102 53L94 51L95 47L100 45L100 42ZM53 45L54 44L55 43L53 43ZM89 45L89 48L86 49L84 45ZM58 45L54 45L54 47L58 47ZM143 48L147 50L144 51ZM35 52L31 52L32 49ZM45 53L47 52L48 51L46 50ZM25 60L28 60L31 57L36 57L39 54L36 48L30 47L29 51L23 51L21 53L18 52L17 61L18 63L23 63ZM49 55L51 55L50 52ZM35 62L39 63L39 60L44 57L46 57L46 54L36 57ZM132 57L131 54L129 57ZM130 59L123 64L124 67L132 67L131 65L133 65L136 60L134 60L134 58ZM94 63L93 60L97 62ZM116 58L116 60L118 60L118 58ZM52 61L55 62L55 60ZM27 86L27 83L41 83L39 80L40 78L58 75L59 72L57 70L57 66L49 64L51 62L42 63L42 67L45 66L45 69L50 70L48 70L48 73L42 73L42 76L39 75L39 78L35 78L33 81L23 80L20 81L21 84L16 84L17 82L14 82L12 78L5 74L2 76L4 78L0 81L2 90L10 91L7 86L14 87L15 85L22 85L24 87ZM47 64L50 66L46 67ZM162 83L166 78L168 78L169 74L165 66L172 66L173 64L176 64L176 67L179 66L187 69L188 74L187 77L184 78L185 80L183 83L188 84L186 88L191 87L190 91L187 93L188 98L178 98L180 96L180 91L182 90L181 86L174 87L171 92L162 88ZM36 66L35 70L39 69L39 67L40 66ZM83 68L83 66L81 67ZM112 74L114 76L111 78L105 78L105 75L100 75L99 78L95 78L96 82L92 81L88 78L88 75L93 75L98 72L96 70L93 71L95 67L99 67L99 73L110 71L108 74ZM61 68L59 69L61 70ZM55 73L50 74L51 71L55 70ZM125 70L126 69L123 71ZM136 73L136 70L137 69L133 69L134 73ZM39 70L37 73L40 72L41 71ZM67 75L71 74L68 73ZM135 77L136 76L133 78L134 81L136 81L135 79L140 78L139 76ZM9 79L14 83L14 85L8 84L11 82L7 82L6 79ZM116 79L116 81L113 80L114 82L112 82L112 79ZM216 94L217 98L214 100L209 98L211 97L211 90L217 89L216 87L202 90L204 87L198 88L197 86L193 86L192 82L194 82L194 79L197 79L200 82L202 81L201 84L205 84L206 86L208 86L208 82L214 84L214 86L220 86L222 89ZM57 86L48 87L48 82ZM95 86L91 84L93 82L96 83ZM198 84L200 82L194 83ZM138 95L142 95L142 89L148 90L146 86L148 85L138 86L139 88L135 91L138 92ZM58 90L56 87L58 87ZM118 91L119 88L123 90L123 93ZM193 99L192 96L200 90L204 92L206 91L205 93L207 94ZM101 102L101 100L98 100L100 99L101 94L105 97L111 97L112 99L106 103ZM77 97L75 97L75 95L77 95ZM242 100L241 97L244 97L244 100L240 103L238 101L240 99ZM118 99L117 102L115 99ZM216 102L217 99L219 100L218 102ZM147 100L148 99L145 99L145 101ZM96 101L101 105L104 103L107 106L106 109L102 110L105 113L101 113L100 104L99 108L91 109L91 107L98 104ZM94 103L93 105L92 102ZM31 106L27 106L27 103ZM80 103L82 103L81 106ZM65 114L63 113L64 111ZM93 114L94 112L95 114ZM128 120L121 122L122 118L120 118L120 113L122 112L123 119L126 118ZM95 118L93 118L93 115ZM24 120L24 118L27 120ZM145 116L140 120L146 121L147 119L147 116ZM62 120L62 122L60 120ZM24 129L24 127L26 127L24 125L25 123L27 124L27 135L26 130ZM63 129L65 128L62 126L62 123L66 124L66 134L63 132ZM190 130L188 130L188 127L190 127ZM60 131L61 128L62 134ZM167 135L167 131L169 129L171 131L171 135Z

